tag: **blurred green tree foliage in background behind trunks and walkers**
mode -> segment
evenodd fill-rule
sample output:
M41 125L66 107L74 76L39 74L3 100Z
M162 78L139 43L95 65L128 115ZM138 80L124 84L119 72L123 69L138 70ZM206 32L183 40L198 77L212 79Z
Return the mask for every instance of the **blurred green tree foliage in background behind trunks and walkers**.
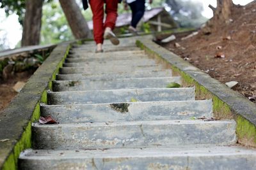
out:
M26 0L4 0L1 8L4 8L6 16L15 13L19 15L19 22L22 25L26 11ZM36 1L36 0L35 0ZM147 1L147 0L146 0ZM83 16L86 20L92 20L92 11L90 8L86 11L82 10L81 0L76 0L81 8ZM152 4L146 3L146 8L155 8L164 6L170 12L172 17L177 20L180 27L199 27L207 19L202 16L202 4L191 0L153 0ZM122 4L119 4L118 13L127 13ZM60 41L68 41L74 39L72 31L68 26L67 19L61 9L58 0L44 0L41 44L58 43Z

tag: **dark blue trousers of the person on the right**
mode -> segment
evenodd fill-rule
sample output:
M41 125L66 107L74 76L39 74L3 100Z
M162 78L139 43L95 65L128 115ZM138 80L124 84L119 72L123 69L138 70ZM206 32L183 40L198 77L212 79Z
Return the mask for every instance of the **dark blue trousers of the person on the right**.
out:
M140 22L141 18L145 13L145 0L136 0L129 3L132 10L132 27L136 28L137 24Z

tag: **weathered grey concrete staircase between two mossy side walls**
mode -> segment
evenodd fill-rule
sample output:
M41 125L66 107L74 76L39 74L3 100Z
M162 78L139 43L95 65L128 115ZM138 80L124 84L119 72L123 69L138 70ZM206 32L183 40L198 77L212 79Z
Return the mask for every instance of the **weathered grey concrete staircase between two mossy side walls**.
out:
M235 146L236 122L193 120L212 117L211 99L166 88L180 77L133 39L93 51L72 48L41 104L60 124L32 125L20 169L256 169L255 150Z

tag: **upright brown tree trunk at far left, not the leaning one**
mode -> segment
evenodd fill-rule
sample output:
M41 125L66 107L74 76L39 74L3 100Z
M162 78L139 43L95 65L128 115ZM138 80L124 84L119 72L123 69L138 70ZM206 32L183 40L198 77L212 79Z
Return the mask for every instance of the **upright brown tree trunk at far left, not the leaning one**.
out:
M26 0L21 46L38 45L44 0Z

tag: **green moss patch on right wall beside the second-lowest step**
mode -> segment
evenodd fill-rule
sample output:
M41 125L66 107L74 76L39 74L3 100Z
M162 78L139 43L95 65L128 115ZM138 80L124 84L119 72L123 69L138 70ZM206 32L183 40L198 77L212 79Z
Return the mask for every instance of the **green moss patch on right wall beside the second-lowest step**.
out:
M241 116L236 118L236 134L239 143L246 146L256 147L256 127Z

